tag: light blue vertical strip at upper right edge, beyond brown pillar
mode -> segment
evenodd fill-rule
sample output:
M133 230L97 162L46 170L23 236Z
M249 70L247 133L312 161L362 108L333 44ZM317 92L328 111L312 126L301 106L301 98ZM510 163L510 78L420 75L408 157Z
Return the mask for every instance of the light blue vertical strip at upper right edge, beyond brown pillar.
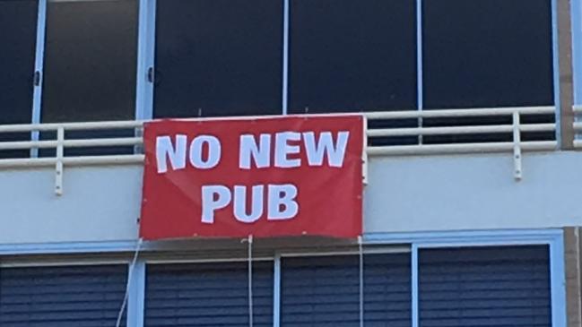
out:
M572 16L572 72L574 82L574 104L582 101L582 5L580 1L570 1Z

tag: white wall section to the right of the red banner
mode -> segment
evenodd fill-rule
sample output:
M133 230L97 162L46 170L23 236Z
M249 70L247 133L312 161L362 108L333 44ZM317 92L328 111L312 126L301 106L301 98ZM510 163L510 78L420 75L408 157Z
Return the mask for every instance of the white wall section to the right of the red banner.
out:
M526 154L523 171L516 182L509 154L373 159L365 229L582 225L582 153Z

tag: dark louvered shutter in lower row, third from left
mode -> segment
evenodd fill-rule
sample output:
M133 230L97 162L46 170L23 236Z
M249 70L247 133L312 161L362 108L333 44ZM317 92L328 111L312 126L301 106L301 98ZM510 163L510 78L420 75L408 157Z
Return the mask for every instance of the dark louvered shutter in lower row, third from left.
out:
M366 254L366 326L411 325L410 254ZM282 259L282 326L358 326L357 255Z

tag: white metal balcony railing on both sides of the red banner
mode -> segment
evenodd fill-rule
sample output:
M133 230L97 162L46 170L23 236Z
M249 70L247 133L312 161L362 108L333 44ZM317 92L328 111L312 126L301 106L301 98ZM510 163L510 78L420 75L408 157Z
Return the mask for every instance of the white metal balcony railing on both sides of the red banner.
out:
M578 109L578 112L582 110ZM542 122L536 124L522 123L522 116L553 115L554 107L532 108L473 108L473 109L445 109L424 111L387 111L369 112L366 116L366 134L368 143L366 154L368 156L396 156L396 155L425 155L445 153L474 153L474 152L513 152L516 162L515 176L521 177L521 151L552 151L557 148L555 137L538 141L522 141L522 133L552 133L556 129L555 123ZM479 124L482 118L494 117L501 124ZM253 119L253 117L245 117ZM256 118L256 117L255 117ZM459 124L459 119L473 119L470 125ZM208 118L205 118L208 119ZM430 126L426 123L430 119L445 119L450 125ZM447 120L448 119L448 120ZM413 121L405 127L393 124L396 121ZM371 126L375 123L384 125ZM387 127L388 126L388 127ZM575 123L575 130L582 131L582 124ZM0 125L0 138L6 133L30 133L30 141L0 142L0 168L27 168L39 166L55 166L56 168L56 193L62 192L62 175L64 166L85 165L117 165L143 163L143 154L140 153L143 139L143 121L109 121L109 122L84 122L63 124L36 124L36 125ZM67 133L74 131L112 131L131 130L135 136L131 137L91 137L76 139L65 137ZM39 140L39 134L43 137ZM53 139L46 139L53 136ZM456 142L455 137L466 135L486 134L491 138L495 135L503 135L502 141L483 142ZM426 138L431 136L447 136L450 140L440 143L427 143ZM406 142L381 141L394 140L395 138L407 138ZM410 139L413 142L410 142ZM495 139L495 137L494 137ZM452 140L452 141L451 141ZM476 140L479 140L477 137ZM380 141L380 142L378 142ZM378 144L379 143L379 144ZM576 142L581 146L581 142ZM136 151L128 151L126 154L115 155L67 155L66 150L83 148L121 148L135 147ZM39 151L49 149L54 151L50 155L38 155ZM24 150L30 151L27 158L4 158L2 151Z

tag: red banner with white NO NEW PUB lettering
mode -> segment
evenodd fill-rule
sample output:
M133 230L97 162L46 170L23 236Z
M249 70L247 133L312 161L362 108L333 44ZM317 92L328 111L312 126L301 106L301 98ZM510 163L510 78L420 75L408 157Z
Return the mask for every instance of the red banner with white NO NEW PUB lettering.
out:
M140 236L357 237L362 120L147 123Z

